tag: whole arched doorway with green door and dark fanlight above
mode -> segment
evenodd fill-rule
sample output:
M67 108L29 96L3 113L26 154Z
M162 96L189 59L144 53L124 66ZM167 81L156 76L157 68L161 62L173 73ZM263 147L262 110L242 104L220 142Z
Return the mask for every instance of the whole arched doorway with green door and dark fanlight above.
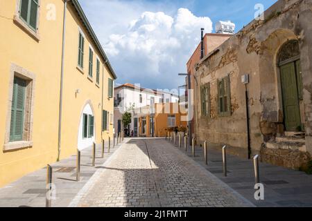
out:
M297 40L287 41L279 50L277 64L281 77L284 126L286 131L302 131L300 100L302 100L302 76L300 48Z

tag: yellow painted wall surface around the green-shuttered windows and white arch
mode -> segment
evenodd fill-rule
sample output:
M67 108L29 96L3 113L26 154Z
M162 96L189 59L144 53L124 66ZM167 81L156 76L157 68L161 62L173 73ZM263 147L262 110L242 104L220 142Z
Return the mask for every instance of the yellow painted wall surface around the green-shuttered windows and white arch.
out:
M0 1L0 187L53 163L58 158L64 2L40 0L39 3L37 34L33 35L33 32L18 21L19 0ZM55 19L51 19L53 7ZM116 78L114 71L105 63L101 48L96 45L94 36L88 32L85 22L80 19L71 2L67 5L66 15L60 160L76 154L80 118L87 103L94 110L94 138L97 144L101 144L102 139L112 137L114 127L110 124L109 130L102 132L102 110L110 113L114 110L114 98L108 98L108 79ZM79 30L85 35L83 70L77 68ZM92 79L88 77L89 46L94 49ZM98 85L96 57L101 63ZM33 126L31 140L28 140L31 146L8 150L5 146L8 144L8 117L10 119L8 107L12 103L12 66L22 68L35 76L32 88L33 108L30 113L33 116Z

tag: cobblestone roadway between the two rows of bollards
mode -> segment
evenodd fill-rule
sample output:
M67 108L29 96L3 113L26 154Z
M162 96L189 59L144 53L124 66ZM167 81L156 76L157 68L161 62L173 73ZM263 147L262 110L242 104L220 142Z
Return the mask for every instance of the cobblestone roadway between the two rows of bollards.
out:
M253 206L163 139L132 139L70 206Z

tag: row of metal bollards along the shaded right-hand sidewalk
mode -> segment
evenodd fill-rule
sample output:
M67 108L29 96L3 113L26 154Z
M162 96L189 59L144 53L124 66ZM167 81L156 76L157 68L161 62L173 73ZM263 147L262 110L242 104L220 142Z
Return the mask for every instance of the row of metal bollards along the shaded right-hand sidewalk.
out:
M175 145L177 145L177 137L175 133L170 132L169 133L170 141L173 142ZM167 133L166 133L166 140L167 140ZM182 137L179 135L178 138L178 146L179 148L182 147ZM191 142L191 154L192 157L196 157L195 153L195 145L196 145L196 138L194 137ZM187 135L184 135L184 149L187 152ZM208 146L207 146L207 141L204 142L204 157L205 157L205 164L208 165ZM223 175L227 177L227 146L223 146L222 148L222 162L223 162ZM260 182L260 176L259 176L259 155L255 155L253 159L253 164L254 164L254 182L258 184Z

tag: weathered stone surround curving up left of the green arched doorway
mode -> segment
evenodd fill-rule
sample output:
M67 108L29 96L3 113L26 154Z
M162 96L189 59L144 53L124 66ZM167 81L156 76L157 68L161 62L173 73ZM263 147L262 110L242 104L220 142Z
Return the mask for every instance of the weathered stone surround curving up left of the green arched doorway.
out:
M284 133L281 79L277 59L281 47L292 40L298 40L293 30L277 29L268 33L268 37L260 46L261 131L266 131L263 135L268 135L268 138L277 133Z

